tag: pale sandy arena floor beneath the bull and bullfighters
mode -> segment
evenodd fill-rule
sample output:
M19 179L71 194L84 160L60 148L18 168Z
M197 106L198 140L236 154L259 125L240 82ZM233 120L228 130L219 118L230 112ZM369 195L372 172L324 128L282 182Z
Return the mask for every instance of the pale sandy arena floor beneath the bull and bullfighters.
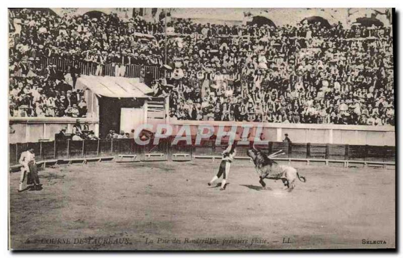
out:
M395 171L298 166L307 182L263 190L248 161L225 191L219 161L93 163L10 174L13 249L323 249L395 246ZM363 244L368 241L378 243ZM283 243L284 242L284 243ZM382 243L381 243L382 242Z

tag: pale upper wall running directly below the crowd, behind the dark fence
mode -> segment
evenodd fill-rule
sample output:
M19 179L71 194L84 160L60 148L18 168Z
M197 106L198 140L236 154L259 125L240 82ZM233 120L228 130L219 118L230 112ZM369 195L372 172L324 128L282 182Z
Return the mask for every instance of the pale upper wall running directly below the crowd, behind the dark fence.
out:
M90 130L99 135L99 118L79 118L78 120L81 124L87 122ZM54 140L54 134L59 132L61 128L67 128L66 132L72 133L73 125L76 121L77 118L11 118L11 128L15 132L9 133L9 143L36 142L40 139ZM259 126L262 127L263 139L268 141L282 141L284 134L288 133L295 143L395 146L395 128L392 126L178 121L172 119L169 120L169 124L173 126L174 134L183 125L190 126L192 134L197 133L199 125L213 125L216 132L220 125L226 127L237 126L237 131L240 132L242 131L242 126L250 125L250 132L253 137L256 128Z

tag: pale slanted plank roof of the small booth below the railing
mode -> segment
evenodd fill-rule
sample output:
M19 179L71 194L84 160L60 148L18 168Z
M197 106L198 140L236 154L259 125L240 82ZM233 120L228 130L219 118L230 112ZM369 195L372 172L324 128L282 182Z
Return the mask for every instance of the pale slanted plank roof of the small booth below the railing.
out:
M77 79L76 88L90 89L106 97L149 97L146 94L153 92L139 78L115 76L82 75Z

